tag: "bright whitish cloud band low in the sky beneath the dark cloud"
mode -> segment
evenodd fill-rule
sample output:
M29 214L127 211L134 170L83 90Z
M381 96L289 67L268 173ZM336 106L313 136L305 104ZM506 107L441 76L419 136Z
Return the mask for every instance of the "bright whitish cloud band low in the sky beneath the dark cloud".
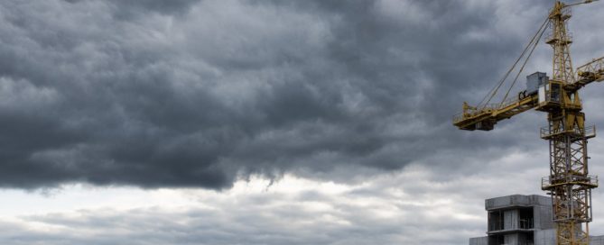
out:
M0 227L5 232L0 234L0 242L432 245L464 244L469 237L483 234L485 212L474 212L482 209L483 202L464 201L497 193L490 189L495 183L475 176L440 185L432 177L425 168L407 168L404 173L373 177L360 185L285 176L273 185L267 179L238 181L223 192L86 188L82 193L78 187L68 187L70 191L54 198L33 199L52 205L75 196L106 197L92 207L38 210L2 219ZM526 180L526 175L502 178L497 184ZM479 186L474 195L451 195L451 186L475 184ZM432 186L432 195L419 191L428 186ZM132 197L125 198L126 193Z

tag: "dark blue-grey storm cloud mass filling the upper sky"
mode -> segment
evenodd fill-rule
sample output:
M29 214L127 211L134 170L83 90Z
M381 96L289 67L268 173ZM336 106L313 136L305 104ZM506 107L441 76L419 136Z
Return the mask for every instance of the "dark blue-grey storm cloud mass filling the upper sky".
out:
M497 158L536 144L537 125L487 136L450 120L503 74L548 1L0 5L2 186L449 171L479 146Z

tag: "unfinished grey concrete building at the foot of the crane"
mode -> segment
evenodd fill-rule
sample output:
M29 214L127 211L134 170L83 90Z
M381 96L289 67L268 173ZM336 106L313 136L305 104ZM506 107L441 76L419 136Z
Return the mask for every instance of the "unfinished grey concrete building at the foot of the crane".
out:
M469 245L555 245L552 199L543 195L506 195L485 200L487 236ZM604 245L591 236L590 245Z

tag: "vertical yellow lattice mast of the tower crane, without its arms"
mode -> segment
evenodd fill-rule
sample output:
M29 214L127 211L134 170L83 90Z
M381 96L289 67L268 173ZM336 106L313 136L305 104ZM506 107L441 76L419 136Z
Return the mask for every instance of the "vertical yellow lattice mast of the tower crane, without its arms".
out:
M552 103L537 108L548 113L549 122L541 133L550 144L550 175L542 180L542 189L552 196L557 243L587 245L591 189L598 186L597 177L588 171L587 140L595 136L595 128L585 127L579 90L560 89L575 83L567 29L570 18L571 9L561 2L549 15L552 35L546 42L553 48L550 89L554 96L550 96Z

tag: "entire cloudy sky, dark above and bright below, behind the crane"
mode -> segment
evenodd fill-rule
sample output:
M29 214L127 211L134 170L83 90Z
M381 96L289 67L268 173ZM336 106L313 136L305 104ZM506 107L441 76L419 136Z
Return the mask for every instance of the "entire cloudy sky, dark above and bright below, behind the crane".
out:
M546 121L451 117L552 5L2 1L0 242L467 244L485 198L542 194ZM603 11L573 9L575 66L604 56ZM551 53L542 41L517 89ZM604 125L604 86L584 90ZM602 152L591 140L592 174Z

